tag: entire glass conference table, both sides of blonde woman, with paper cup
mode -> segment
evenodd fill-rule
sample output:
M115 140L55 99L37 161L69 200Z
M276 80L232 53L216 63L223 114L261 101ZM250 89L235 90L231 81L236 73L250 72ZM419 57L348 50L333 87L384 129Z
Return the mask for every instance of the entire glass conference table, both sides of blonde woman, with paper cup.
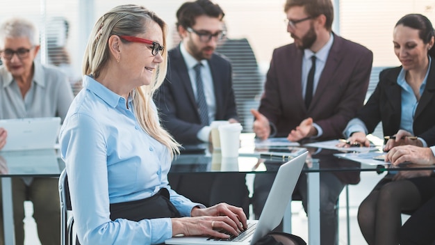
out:
M172 164L170 174L179 173L276 173L280 164L287 159L276 159L259 157L252 154L254 152L254 135L242 134L240 157L234 159L222 159L219 151L210 152L208 148L200 148L199 151L192 150L185 152L177 157ZM360 171L384 172L388 170L388 165L361 164L359 161L350 161L338 158L334 154L340 153L336 150L326 150L319 148L306 148L311 152L307 158L306 165L302 172L307 173L308 179L308 199L309 199L309 244L320 244L320 203L319 185L320 173L334 172L344 174L345 177L351 176L349 184L359 182ZM195 154L192 154L195 153ZM352 154L352 153L350 153ZM375 161L377 163L377 161ZM13 222L13 202L12 202L12 178L13 177L58 177L65 168L65 164L60 159L56 150L26 150L15 152L0 151L0 177L1 177L1 196L3 202L3 230L5 244L15 244L15 230ZM400 166L395 170L409 170ZM427 166L419 169L435 169L435 166ZM316 201L317 200L317 201ZM288 209L290 210L290 209ZM288 212L286 216L289 216ZM288 227L288 220L284 217L284 228ZM287 225L286 225L287 223ZM286 230L288 231L288 230ZM60 230L59 230L60 232Z

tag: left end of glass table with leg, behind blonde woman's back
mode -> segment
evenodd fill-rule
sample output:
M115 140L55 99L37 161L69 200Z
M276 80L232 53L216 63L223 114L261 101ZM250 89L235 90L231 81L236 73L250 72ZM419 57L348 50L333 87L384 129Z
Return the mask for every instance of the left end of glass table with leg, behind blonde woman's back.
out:
M25 150L0 152L3 230L6 245L15 245L13 221L13 177L59 177L65 168L56 150ZM60 230L58 231L60 232Z

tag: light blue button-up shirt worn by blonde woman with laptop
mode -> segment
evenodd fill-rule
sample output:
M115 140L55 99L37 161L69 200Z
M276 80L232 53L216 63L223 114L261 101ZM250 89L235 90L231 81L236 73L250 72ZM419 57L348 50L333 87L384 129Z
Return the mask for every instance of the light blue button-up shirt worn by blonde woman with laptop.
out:
M169 218L111 221L110 203L148 198L167 188L182 216L199 205L170 189L170 152L140 127L131 97L128 105L124 97L85 76L60 129L81 244L159 244L172 237Z

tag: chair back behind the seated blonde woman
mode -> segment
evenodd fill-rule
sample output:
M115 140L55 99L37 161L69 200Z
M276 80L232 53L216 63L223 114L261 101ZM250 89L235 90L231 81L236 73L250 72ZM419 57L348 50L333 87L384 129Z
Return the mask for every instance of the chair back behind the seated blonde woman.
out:
M59 199L60 199L60 245L74 244L72 226L74 217L68 211L72 211L71 199L69 198L69 187L67 171L64 169L59 177ZM71 213L71 212L69 212Z

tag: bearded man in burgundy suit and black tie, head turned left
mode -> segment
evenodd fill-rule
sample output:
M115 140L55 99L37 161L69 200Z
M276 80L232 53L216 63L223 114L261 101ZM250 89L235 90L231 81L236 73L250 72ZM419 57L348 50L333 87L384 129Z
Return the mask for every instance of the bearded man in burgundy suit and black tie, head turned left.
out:
M363 106L372 52L331 31L331 0L287 0L284 12L294 42L273 52L261 104L258 111L252 110L254 132L261 139L339 139ZM264 191L264 182L257 178L254 184L254 212L259 214L263 202L256 198L255 187ZM335 205L345 184L337 175L320 175L322 244L336 244ZM297 188L306 207L305 175Z

